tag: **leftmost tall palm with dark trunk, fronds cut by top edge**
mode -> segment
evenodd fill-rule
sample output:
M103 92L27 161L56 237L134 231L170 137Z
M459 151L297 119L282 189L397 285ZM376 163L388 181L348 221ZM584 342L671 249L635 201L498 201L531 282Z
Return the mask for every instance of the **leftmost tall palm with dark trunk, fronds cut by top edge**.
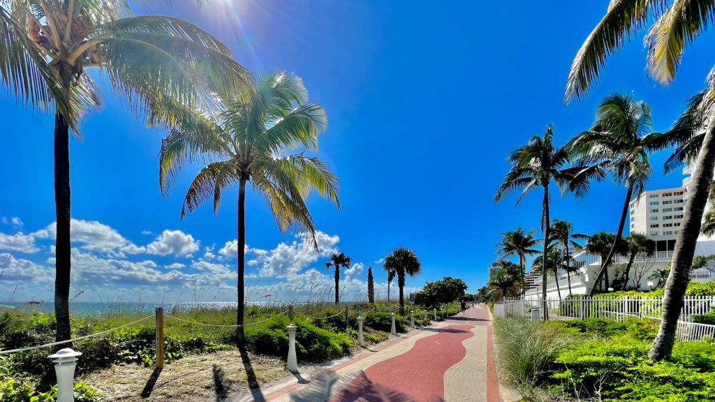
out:
M33 109L54 109L57 220L57 340L69 325L69 132L100 106L89 71L107 73L114 92L150 124L181 122L189 110L215 111L215 94L239 92L249 73L197 26L168 16L134 16L128 0L1 0L0 76Z

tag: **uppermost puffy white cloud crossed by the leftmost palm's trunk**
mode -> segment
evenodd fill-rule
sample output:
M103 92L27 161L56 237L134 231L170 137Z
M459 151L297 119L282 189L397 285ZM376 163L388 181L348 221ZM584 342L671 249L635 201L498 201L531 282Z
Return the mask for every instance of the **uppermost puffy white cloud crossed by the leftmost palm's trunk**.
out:
M130 242L117 230L104 225L96 220L73 219L70 222L71 239L74 243L81 243L83 250L97 253L109 253L121 256L123 253L139 254L144 253L144 247L139 247ZM56 239L57 222L44 227L33 233L34 236L46 239Z

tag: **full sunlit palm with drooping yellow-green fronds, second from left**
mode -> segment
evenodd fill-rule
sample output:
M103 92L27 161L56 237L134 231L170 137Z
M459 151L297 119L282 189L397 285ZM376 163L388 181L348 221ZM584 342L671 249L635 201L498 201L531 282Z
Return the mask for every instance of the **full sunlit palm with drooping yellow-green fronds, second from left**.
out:
M316 190L340 208L337 177L317 157L303 153L281 155L303 146L317 149L317 134L325 127L325 112L307 100L302 80L287 72L252 79L250 96L226 102L218 117L197 117L200 124L173 129L162 140L159 152L159 185L166 196L182 167L207 161L184 199L181 217L212 198L218 212L222 192L238 187L238 282L237 325L243 324L246 244L246 184L253 183L273 213L280 230L295 227L315 240L315 224L305 205ZM243 327L237 327L237 343L243 343Z

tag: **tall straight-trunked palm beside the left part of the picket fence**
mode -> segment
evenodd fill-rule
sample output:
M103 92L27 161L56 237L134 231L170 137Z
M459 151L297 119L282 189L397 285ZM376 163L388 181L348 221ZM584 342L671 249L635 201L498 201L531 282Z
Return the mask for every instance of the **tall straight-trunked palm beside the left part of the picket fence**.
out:
M509 154L508 161L511 162L511 170L504 177L504 182L497 189L494 197L495 202L500 202L509 192L523 188L521 195L516 201L516 205L521 202L524 195L541 187L543 190L543 201L541 204L541 232L545 239L550 238L551 218L549 217L549 205L551 193L549 187L551 182L556 185L564 194L573 191L576 196L585 195L588 192L588 180L595 178L600 180L603 171L598 165L591 167L568 167L571 160L570 150L566 147L554 147L553 127L548 126L543 136L534 135L526 145L517 147ZM578 180L576 177L578 175ZM548 242L543 242L543 258L547 260ZM543 298L544 319L548 317L546 305L546 270L542 273L541 297Z

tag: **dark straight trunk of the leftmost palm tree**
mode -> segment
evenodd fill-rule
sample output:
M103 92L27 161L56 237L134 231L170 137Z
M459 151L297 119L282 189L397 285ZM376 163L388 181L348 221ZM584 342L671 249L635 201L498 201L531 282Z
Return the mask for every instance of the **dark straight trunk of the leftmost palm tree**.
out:
M71 84L72 67L59 62L57 68L66 92ZM66 102L69 108L69 102ZM64 115L54 115L54 205L57 220L55 240L54 315L57 320L56 340L71 338L69 326L69 281L71 274L70 191L69 191L69 123ZM61 345L59 348L66 348Z

